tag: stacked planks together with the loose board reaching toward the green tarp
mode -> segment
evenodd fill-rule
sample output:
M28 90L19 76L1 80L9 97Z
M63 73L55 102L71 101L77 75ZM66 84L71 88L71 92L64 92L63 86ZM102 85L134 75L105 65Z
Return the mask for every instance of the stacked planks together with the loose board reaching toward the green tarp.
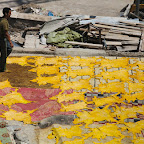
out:
M101 39L98 43L66 42L72 45L89 48L112 49L121 52L144 51L144 24L132 21L119 21L119 24L95 23L89 27L81 27L80 31L87 32L89 37ZM100 31L99 31L100 30Z

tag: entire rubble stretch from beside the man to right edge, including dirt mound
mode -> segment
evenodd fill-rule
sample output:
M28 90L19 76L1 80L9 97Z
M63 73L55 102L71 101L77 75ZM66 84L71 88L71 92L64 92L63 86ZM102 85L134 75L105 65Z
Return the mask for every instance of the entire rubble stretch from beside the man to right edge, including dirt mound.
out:
M28 11L30 9L30 11ZM22 13L21 13L22 12ZM144 23L124 17L72 15L58 17L34 5L22 5L12 15L12 40L23 48L82 48L139 52Z

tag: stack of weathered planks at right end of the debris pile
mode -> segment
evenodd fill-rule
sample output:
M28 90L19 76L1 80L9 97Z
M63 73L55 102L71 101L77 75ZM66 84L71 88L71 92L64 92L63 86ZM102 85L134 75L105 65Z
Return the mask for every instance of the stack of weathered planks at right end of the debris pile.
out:
M94 26L102 28L102 39L107 48L115 47L117 51L139 50L144 24L120 21L118 25L96 23Z

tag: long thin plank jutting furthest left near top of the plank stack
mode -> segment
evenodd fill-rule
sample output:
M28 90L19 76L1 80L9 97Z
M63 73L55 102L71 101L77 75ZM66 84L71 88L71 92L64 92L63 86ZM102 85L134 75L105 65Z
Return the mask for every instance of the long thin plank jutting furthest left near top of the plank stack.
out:
M101 25L101 24L94 24L94 26L100 27L100 28L105 28L105 29L117 29L117 30L123 30L123 31L139 32L139 30L119 28L119 27L112 27L112 26L105 26L105 25Z

